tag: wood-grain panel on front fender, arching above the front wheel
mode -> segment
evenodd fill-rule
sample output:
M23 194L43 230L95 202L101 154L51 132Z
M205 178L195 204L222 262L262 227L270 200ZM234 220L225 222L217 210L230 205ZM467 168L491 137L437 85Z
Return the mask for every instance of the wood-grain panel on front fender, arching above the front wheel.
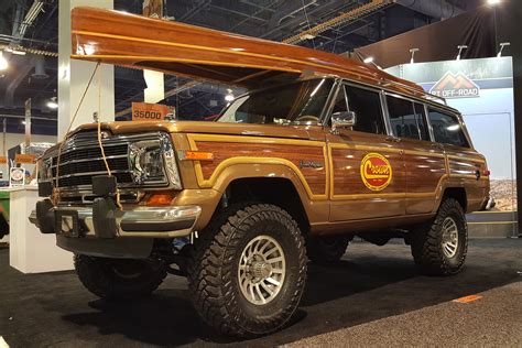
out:
M324 149L294 144L259 144L241 142L196 141L198 151L214 153L214 161L202 161L202 172L205 180L209 180L218 165L226 160L242 157L284 159L292 162L306 180L314 195L327 194L327 171ZM301 161L323 164L323 167L301 167Z

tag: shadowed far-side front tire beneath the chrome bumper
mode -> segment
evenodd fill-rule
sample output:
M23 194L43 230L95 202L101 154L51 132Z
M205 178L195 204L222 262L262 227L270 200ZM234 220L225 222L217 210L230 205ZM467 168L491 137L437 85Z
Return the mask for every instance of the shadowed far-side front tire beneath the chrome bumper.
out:
M75 254L74 265L81 284L93 294L108 300L149 296L166 276L166 267L145 260L105 259ZM117 272L130 268L132 276Z

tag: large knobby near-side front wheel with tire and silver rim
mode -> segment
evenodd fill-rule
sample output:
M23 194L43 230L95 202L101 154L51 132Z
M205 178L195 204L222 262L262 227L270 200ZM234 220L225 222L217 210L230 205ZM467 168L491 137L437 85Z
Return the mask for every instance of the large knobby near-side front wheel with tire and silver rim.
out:
M188 284L203 319L221 334L265 335L301 301L306 253L297 222L267 204L232 206L200 233Z

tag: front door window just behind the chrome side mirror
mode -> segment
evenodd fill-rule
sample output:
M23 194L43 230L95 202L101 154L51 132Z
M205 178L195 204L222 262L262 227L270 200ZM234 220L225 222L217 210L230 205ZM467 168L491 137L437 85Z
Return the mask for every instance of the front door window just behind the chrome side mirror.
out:
M357 116L355 131L385 134L382 120L381 98L379 93L355 86L345 86L348 108Z

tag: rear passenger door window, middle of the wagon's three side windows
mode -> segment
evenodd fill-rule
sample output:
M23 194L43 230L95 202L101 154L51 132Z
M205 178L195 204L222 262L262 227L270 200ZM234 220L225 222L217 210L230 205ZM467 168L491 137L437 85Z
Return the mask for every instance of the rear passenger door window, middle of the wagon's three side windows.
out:
M388 112L393 134L399 138L421 139L413 102L388 96Z

